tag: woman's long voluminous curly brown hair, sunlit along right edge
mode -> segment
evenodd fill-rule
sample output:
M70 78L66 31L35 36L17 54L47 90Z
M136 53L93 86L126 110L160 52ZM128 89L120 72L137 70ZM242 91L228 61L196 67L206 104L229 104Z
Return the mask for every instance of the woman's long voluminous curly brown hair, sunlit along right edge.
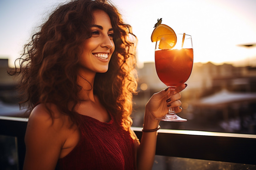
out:
M129 129L132 98L137 89L137 38L131 26L123 23L117 8L107 0L72 0L61 4L25 44L22 56L17 59L20 67L15 64L9 74L21 75L20 105L26 106L27 113L38 102L50 102L61 113L69 115L74 123L79 123L74 111L81 90L76 83L78 56L83 52L81 44L92 36L92 12L97 9L105 11L111 19L115 51L108 71L96 74L94 93L118 123ZM70 103L73 104L71 110L68 108Z

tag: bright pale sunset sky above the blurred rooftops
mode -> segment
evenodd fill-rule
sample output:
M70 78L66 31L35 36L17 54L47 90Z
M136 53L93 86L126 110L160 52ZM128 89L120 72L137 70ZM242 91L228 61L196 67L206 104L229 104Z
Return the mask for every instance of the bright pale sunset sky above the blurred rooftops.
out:
M61 0L0 0L0 58L12 66L33 29ZM138 37L138 64L154 61L150 40L158 18L176 33L192 36L194 62L246 59L256 66L255 0L112 0Z

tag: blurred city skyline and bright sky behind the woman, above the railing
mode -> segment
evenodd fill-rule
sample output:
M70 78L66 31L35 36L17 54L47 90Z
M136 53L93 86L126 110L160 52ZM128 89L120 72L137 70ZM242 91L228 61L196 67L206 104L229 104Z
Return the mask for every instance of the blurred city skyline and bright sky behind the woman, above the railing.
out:
M61 0L0 0L0 115L20 116L8 67L23 44ZM150 40L158 18L176 33L192 36L194 65L183 90L186 123L161 122L162 128L256 134L256 1L112 0L138 37L139 86L133 126L141 127L145 104L165 89L154 65Z

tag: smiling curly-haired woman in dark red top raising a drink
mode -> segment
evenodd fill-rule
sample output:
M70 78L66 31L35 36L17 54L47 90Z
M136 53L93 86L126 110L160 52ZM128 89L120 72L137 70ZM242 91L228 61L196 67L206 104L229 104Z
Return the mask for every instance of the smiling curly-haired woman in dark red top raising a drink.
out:
M135 40L135 42L133 42ZM180 91L154 94L139 143L130 129L136 37L105 0L59 6L25 45L20 69L30 113L24 170L151 169L159 121ZM166 102L167 99L168 102Z

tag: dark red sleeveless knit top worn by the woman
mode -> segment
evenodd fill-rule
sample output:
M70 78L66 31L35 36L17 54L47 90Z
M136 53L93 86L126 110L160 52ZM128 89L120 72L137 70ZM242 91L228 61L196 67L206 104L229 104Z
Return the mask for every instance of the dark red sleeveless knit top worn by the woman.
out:
M80 141L67 156L58 160L56 169L136 169L134 141L112 115L108 123L85 115L80 118Z

